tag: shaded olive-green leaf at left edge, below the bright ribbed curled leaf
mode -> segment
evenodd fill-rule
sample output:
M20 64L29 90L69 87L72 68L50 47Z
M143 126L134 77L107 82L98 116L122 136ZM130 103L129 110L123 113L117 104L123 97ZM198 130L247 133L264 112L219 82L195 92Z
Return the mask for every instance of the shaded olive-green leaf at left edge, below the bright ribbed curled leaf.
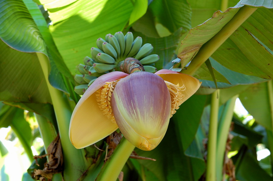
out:
M25 43L28 44L28 42ZM29 43L31 44L31 42ZM36 53L16 51L3 41L0 41L0 49L0 100L24 103L51 103ZM27 47L24 49L26 50Z

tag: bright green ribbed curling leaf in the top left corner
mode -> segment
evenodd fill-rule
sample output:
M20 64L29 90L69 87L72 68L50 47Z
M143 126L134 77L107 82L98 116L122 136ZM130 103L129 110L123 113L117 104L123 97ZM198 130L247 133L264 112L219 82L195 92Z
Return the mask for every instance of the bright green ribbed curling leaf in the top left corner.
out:
M23 1L0 2L0 38L22 52L47 54L45 43Z

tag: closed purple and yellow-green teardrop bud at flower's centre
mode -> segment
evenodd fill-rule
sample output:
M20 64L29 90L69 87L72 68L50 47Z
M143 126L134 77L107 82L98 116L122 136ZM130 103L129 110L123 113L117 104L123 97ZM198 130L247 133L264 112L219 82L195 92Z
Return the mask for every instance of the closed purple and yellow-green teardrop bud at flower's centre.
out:
M130 74L117 83L111 106L127 140L142 150L156 148L166 133L171 110L162 78L149 72Z

